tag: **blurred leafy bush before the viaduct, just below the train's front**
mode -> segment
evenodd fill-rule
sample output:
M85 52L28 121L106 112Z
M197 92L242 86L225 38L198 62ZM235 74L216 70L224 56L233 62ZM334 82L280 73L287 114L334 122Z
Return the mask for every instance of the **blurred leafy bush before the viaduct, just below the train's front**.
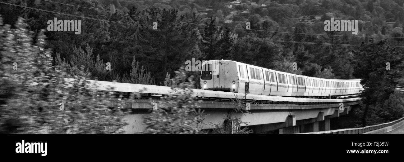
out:
M144 134L202 134L206 115L193 97L193 77L187 77L184 67L175 71L171 90L174 92L158 100L157 109L144 115Z

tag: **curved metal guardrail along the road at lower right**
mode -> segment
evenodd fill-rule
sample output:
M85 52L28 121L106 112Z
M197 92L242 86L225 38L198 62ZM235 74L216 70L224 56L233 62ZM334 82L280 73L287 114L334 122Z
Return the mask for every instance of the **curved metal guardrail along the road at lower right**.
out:
M360 128L336 129L336 130L331 130L331 131L307 132L307 133L295 133L295 134L361 134L361 133L366 133L369 131L375 131L377 129L389 127L389 126L398 124L403 120L404 120L404 117L402 117L398 120L394 120L389 123L382 123L379 125L371 125L371 126L360 127Z

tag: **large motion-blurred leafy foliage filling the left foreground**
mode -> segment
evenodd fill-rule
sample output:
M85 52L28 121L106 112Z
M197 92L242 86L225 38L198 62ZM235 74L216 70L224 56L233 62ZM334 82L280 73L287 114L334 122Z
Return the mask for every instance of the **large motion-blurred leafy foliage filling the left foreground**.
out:
M67 83L67 73L44 49L43 31L33 44L20 18L14 29L1 25L0 35L0 133L123 133L124 100L93 90L84 66Z

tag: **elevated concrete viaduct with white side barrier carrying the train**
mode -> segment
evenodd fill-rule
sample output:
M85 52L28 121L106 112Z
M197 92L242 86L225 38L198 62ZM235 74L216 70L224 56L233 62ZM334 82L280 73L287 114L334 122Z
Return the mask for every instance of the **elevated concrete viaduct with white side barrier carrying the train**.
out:
M72 81L75 79L66 79ZM153 99L138 99L127 103L133 113L126 116L128 124L126 133L140 133L145 128L142 116L149 113L159 95L175 93L170 87L156 85L139 85L130 83L115 83L107 81L88 80L97 86L93 88L104 91L117 91L118 93L142 93ZM233 114L254 133L267 133L279 131L279 134L305 133L316 131L329 131L330 118L348 114L349 111L360 104L360 98L347 99L314 99L281 96L264 96L244 93L231 93L222 91L207 91L193 89L193 96L202 100L199 105L206 116L204 129L213 129L209 123L223 124L226 116L234 107L231 99L245 99L250 102L250 113ZM153 96L153 97L152 97ZM207 100L206 100L207 99ZM254 102L252 102L254 101ZM242 125L246 126L246 125Z

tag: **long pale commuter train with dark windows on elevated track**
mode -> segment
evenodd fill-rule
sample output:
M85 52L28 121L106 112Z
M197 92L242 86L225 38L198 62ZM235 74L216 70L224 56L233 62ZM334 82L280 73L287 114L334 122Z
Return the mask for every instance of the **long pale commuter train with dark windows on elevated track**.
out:
M200 86L212 91L307 98L341 98L363 90L360 79L307 77L232 60L202 62Z

